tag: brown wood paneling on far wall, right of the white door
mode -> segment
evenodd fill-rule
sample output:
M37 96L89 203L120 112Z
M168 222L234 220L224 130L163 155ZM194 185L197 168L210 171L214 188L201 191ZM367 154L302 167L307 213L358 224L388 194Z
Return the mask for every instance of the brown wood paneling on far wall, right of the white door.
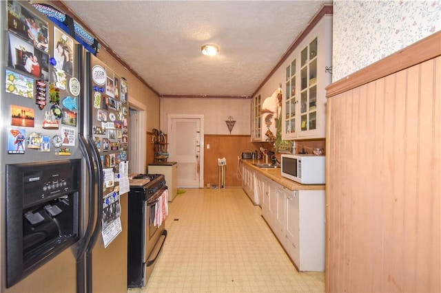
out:
M211 186L219 184L218 158L224 157L227 160L227 166L225 166L225 187L242 186L241 179L239 180L237 177L237 157L243 151L256 150L256 145L251 142L251 136L204 135L204 141L204 186L207 186L207 184L211 184ZM209 144L209 149L206 147L207 144Z

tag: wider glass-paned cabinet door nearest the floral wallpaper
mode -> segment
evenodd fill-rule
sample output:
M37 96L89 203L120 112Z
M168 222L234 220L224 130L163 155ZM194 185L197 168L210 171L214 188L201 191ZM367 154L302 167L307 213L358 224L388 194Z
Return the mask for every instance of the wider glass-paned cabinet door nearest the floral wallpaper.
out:
M300 53L300 129L317 125L317 38Z

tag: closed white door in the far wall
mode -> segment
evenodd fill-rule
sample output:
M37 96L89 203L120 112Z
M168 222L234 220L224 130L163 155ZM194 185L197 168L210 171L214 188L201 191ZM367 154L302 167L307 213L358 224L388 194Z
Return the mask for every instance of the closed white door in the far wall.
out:
M202 132L201 118L170 117L170 121L167 119L169 161L178 163L176 180L178 187L199 188L203 186Z

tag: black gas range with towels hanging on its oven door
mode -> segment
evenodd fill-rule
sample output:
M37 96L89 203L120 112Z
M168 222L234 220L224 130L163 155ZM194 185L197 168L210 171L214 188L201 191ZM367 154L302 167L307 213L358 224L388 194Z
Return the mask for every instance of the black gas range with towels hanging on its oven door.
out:
M165 184L162 174L139 174L130 180L127 287L146 285L167 237L165 219L155 221L159 205L167 204Z

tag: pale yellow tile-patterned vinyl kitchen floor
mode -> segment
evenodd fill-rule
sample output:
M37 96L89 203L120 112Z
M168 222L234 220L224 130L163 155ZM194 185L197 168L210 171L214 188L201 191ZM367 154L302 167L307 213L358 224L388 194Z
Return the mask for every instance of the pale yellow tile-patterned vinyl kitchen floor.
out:
M325 292L325 274L297 272L242 189L185 191L147 285L128 292Z

